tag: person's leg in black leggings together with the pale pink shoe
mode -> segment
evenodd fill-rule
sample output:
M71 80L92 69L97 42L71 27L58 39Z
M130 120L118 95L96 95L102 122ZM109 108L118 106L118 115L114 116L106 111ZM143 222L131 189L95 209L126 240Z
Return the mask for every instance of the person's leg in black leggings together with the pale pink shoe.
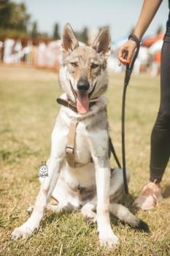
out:
M150 154L150 183L134 204L149 210L161 200L160 182L170 156L170 38L163 42L161 56L161 105L152 129Z

